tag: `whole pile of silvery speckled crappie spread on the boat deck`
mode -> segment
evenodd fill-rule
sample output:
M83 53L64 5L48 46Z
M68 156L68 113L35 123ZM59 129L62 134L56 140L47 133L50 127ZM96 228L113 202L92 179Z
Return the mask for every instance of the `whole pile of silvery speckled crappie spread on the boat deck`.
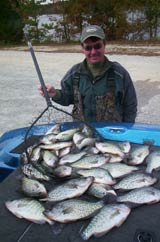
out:
M84 240L121 226L133 208L160 202L160 189L153 186L160 150L101 140L86 125L61 130L55 124L22 160L24 196L6 201L6 208L39 224L87 219Z

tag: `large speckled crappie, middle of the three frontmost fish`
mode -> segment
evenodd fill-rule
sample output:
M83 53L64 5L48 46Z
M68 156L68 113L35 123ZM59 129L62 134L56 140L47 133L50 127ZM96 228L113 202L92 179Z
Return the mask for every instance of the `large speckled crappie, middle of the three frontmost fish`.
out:
M78 199L69 199L59 202L44 214L50 219L60 223L69 223L93 216L104 206L102 201L89 202Z

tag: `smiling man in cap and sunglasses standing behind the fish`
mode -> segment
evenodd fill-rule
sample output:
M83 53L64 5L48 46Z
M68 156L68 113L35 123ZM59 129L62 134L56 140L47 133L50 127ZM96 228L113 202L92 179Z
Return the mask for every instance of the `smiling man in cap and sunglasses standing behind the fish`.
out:
M134 123L135 88L129 73L105 56L104 31L97 25L87 26L80 40L84 61L66 73L60 90L47 86L49 96L63 106L73 104L74 120Z

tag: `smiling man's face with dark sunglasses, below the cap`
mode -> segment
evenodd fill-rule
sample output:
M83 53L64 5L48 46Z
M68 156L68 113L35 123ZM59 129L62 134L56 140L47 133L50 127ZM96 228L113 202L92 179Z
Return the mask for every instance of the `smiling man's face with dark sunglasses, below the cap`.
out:
M92 40L92 38L88 38L82 43L82 47L87 61L90 64L104 60L105 42L103 40L98 38Z

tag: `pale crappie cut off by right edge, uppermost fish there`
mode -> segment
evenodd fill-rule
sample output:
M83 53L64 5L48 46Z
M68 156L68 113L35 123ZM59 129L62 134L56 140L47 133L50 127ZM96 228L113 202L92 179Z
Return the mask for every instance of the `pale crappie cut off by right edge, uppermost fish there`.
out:
M160 151L153 151L146 158L146 172L152 173L153 170L158 170L160 168Z

